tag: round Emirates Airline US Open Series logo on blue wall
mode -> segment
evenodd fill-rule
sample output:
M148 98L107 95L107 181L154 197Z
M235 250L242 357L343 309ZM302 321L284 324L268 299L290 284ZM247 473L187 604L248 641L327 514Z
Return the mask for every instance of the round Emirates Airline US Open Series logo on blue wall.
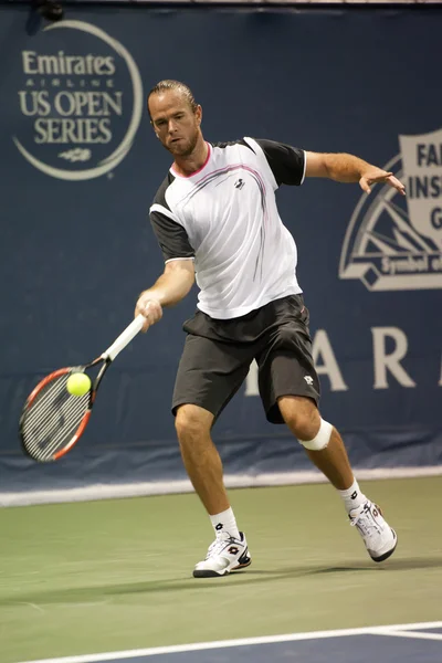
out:
M143 114L141 78L127 49L96 25L60 21L17 56L21 122L13 141L24 159L71 181L113 170Z

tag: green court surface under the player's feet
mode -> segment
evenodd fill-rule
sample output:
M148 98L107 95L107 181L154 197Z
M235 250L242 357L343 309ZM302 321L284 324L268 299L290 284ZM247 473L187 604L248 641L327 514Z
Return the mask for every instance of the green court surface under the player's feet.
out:
M442 620L442 477L361 482L397 529L376 565L327 484L231 491L252 566L196 580L196 495L0 509L0 661Z

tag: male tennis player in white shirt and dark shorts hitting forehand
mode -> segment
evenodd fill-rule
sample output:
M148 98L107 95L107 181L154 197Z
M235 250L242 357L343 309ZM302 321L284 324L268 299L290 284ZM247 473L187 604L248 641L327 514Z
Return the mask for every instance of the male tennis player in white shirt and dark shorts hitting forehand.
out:
M150 208L165 270L141 293L135 314L146 317L146 330L165 306L186 297L194 281L200 290L198 311L183 325L187 337L172 398L183 464L215 537L193 576L225 576L251 564L211 429L253 359L267 420L285 423L337 490L371 559L387 559L397 535L361 492L339 432L318 410L319 380L296 278L296 244L280 219L275 191L308 177L359 182L367 193L375 182L385 182L404 194L403 185L348 154L317 154L248 137L208 143L201 106L178 81L158 83L148 108L173 164Z

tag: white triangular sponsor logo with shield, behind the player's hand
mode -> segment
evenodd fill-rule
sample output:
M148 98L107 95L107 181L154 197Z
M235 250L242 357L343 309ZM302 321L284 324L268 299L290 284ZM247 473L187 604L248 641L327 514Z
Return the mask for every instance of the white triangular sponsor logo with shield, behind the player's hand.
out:
M442 129L399 136L400 154L386 164L407 197L378 186L364 193L347 228L340 278L372 292L442 288Z

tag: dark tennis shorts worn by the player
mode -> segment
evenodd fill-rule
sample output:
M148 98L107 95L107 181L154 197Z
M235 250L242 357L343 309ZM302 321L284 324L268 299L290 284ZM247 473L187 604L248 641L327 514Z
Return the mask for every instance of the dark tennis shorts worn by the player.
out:
M320 388L308 318L302 295L275 299L227 320L198 311L183 324L187 337L175 383L173 414L179 406L191 403L217 419L240 389L253 359L270 422L284 423L277 406L281 396L305 396L318 404Z

